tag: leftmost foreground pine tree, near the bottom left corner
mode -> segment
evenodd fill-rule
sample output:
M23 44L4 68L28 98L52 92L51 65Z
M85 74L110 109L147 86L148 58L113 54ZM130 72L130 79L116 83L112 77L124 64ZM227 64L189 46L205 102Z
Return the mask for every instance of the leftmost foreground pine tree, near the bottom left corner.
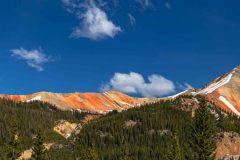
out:
M15 160L21 155L21 147L19 143L19 132L16 120L13 118L11 121L11 137L6 145L6 158Z

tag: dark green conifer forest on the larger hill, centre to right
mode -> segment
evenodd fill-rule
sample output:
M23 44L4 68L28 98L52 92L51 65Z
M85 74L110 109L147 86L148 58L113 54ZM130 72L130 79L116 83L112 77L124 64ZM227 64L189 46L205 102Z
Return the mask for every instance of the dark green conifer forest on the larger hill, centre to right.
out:
M196 99L192 117L181 99ZM191 106L189 106L191 107ZM84 160L213 160L216 135L239 130L240 120L203 97L146 104L112 112L85 125L75 145L50 151L53 159ZM64 157L64 158L62 158Z

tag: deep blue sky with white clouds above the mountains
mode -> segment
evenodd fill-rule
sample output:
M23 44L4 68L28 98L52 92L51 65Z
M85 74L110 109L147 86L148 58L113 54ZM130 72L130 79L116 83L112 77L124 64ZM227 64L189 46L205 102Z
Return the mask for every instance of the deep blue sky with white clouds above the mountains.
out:
M165 96L239 65L237 0L2 0L0 92Z

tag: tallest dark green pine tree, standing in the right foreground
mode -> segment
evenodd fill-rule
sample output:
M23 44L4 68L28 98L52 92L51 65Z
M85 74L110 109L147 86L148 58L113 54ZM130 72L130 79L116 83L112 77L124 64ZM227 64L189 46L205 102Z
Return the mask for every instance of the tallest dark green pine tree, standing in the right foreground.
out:
M191 146L196 160L214 160L216 143L214 116L204 100L196 111Z

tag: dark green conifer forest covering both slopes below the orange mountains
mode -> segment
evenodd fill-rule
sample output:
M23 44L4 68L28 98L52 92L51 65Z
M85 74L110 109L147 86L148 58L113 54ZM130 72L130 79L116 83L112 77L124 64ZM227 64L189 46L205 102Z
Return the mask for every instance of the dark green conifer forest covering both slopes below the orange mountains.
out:
M215 158L218 133L240 133L238 117L200 96L181 96L121 113L113 111L83 125L80 133L69 139L53 131L59 120L80 123L85 115L37 101L14 103L2 99L1 155L11 139L13 121L17 122L22 151L36 146L34 137L39 135L45 143L54 143L45 154L46 159L56 160L210 160ZM42 136L38 128L42 128Z

